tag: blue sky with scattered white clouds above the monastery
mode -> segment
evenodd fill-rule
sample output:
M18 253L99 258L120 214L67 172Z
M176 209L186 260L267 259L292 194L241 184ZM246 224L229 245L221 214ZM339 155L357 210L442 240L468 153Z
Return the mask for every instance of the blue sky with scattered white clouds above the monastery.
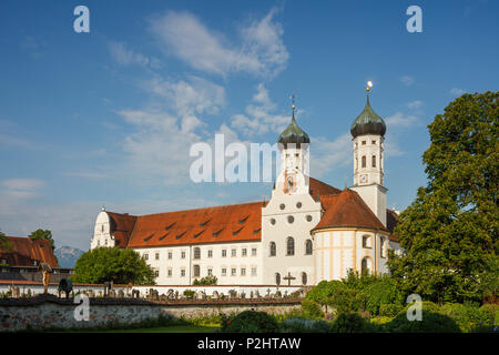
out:
M73 9L90 9L90 33ZM422 32L406 9L422 9ZM274 143L296 93L312 175L353 181L349 125L387 122L398 210L426 184L427 124L464 92L497 91L497 1L2 1L0 229L88 250L102 205L146 214L258 201L272 184L194 184L189 149Z

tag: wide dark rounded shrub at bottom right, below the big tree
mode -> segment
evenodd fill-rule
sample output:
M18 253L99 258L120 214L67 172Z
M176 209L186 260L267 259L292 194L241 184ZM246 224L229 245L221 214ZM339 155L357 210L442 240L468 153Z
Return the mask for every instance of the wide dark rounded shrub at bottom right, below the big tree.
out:
M384 329L393 333L460 333L449 316L422 308L421 321L409 321L405 313L397 315Z

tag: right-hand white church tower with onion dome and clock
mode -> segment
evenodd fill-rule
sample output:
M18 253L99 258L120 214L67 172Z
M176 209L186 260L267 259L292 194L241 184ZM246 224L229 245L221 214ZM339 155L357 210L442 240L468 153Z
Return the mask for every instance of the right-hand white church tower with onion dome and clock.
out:
M386 124L370 106L371 85L369 81L366 88L366 106L350 126L354 142L354 186L350 189L358 192L386 226L386 192L388 190L383 185Z

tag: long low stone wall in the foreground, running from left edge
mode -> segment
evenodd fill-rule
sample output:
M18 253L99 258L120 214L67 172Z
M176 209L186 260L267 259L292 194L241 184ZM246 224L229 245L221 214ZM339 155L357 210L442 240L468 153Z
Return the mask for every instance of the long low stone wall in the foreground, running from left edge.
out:
M160 315L173 317L201 317L254 310L279 314L299 308L299 300L179 300L151 302L139 298L90 298L89 321L77 321L78 304L72 300L41 295L33 298L0 300L0 332L27 329L90 328L110 322L138 323Z

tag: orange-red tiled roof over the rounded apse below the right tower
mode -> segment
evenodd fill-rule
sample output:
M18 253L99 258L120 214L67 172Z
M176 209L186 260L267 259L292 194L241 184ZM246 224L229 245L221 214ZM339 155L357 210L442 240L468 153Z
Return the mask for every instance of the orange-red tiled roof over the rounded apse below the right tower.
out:
M345 189L338 194L320 196L320 203L325 212L313 231L329 227L364 227L388 232L360 195L353 190Z

